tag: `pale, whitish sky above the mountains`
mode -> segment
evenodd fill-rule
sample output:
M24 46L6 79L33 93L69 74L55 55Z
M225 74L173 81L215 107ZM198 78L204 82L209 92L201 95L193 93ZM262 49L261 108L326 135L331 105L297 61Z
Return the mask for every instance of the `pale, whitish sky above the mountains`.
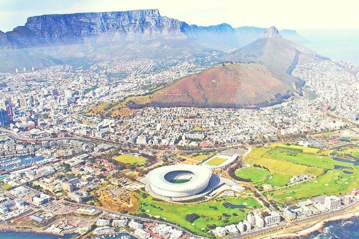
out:
M358 29L358 0L0 0L0 30L33 15L157 8L188 24L278 29Z

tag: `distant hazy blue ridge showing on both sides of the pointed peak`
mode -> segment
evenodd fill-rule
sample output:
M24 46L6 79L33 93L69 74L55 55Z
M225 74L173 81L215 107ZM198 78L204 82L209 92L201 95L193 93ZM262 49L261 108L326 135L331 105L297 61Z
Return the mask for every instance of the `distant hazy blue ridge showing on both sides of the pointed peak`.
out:
M234 28L240 47L246 46L259 38L267 28L255 26L241 26ZM279 33L287 40L297 44L307 43L308 40L299 35L295 30L280 30Z

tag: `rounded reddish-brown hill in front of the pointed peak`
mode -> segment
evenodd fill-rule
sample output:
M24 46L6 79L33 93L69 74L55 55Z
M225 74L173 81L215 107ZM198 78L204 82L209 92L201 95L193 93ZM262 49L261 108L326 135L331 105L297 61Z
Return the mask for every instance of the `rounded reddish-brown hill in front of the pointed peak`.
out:
M282 102L299 91L300 84L284 84L260 64L227 64L180 79L128 106L258 108Z

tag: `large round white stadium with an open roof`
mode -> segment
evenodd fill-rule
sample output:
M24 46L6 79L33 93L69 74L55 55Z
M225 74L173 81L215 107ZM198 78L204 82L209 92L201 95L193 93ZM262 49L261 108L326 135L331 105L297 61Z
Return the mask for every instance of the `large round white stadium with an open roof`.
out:
M157 198L181 201L203 196L218 186L219 178L200 165L170 165L147 174L146 190Z

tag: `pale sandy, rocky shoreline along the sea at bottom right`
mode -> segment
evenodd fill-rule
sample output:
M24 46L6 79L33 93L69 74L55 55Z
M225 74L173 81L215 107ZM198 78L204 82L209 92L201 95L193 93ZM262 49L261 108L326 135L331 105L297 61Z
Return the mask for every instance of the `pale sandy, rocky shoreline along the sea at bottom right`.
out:
M314 225L310 226L309 228L300 230L298 232L267 236L267 237L264 237L263 239L288 239L288 238L298 238L298 237L309 236L310 234L312 234L314 232L322 230L326 223L341 221L341 220L348 220L351 218L359 218L359 211L324 219L323 221L315 223Z

